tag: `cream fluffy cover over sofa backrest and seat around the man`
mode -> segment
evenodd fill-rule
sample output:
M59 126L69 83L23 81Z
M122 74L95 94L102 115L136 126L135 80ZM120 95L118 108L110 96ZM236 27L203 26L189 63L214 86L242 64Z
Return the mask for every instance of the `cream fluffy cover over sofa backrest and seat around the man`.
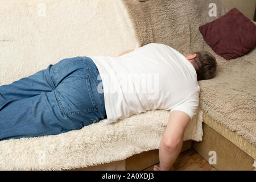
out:
M45 10L45 11L44 11ZM139 46L119 0L0 1L0 85L73 56L109 55ZM201 140L202 115L184 140ZM159 148L168 111L154 110L106 125L0 142L0 169L71 169L126 159Z

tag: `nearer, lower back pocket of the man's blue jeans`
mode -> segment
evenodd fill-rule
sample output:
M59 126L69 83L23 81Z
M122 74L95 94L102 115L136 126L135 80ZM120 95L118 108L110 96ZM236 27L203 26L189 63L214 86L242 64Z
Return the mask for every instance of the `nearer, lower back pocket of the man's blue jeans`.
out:
M88 75L66 78L57 87L57 101L67 115L85 114L97 111L92 85Z

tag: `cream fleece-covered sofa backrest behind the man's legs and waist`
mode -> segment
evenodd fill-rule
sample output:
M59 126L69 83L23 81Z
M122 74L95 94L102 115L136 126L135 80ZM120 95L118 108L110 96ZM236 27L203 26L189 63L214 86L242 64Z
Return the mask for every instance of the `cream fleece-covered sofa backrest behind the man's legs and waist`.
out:
M0 85L75 56L138 46L120 0L0 1Z

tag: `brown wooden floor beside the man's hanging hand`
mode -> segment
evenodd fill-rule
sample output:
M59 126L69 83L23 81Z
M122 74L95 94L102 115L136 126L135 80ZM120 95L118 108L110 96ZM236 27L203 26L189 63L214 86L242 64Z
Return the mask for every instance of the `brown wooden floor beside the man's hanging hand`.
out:
M181 152L179 158L174 163L175 171L217 171L193 148ZM154 166L144 169L144 171L152 171Z

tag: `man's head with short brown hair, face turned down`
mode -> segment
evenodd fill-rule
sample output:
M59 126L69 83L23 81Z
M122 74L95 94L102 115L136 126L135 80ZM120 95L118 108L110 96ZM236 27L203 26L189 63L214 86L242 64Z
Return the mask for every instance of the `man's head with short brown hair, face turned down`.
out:
M216 75L217 62L207 51L195 52L185 56L196 69L197 80L212 79Z

